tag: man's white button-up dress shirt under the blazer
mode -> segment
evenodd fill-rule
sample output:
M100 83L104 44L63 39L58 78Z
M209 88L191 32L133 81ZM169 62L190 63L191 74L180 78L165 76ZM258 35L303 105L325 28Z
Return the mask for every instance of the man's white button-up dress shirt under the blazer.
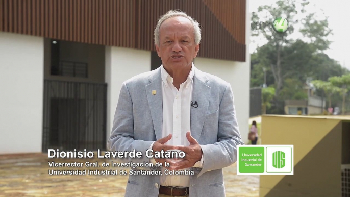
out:
M191 71L186 81L180 84L179 90L172 84L173 78L161 65L162 95L163 95L163 125L162 137L172 134L172 138L166 142L167 145L189 146L186 138L187 131L191 131L191 101L193 89L193 76L195 67L192 63ZM151 148L153 143L151 144ZM201 161L194 167L203 167L203 154ZM151 162L155 162L152 158ZM190 175L165 175L162 167L160 184L163 186L189 187ZM185 168L188 170L189 168ZM183 169L184 170L184 169Z

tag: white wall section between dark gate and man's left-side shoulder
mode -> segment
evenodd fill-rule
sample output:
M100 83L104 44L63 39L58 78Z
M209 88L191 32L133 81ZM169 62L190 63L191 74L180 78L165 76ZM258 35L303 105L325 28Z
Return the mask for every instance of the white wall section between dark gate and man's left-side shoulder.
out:
M111 134L119 92L124 81L151 70L151 52L106 46L107 140Z

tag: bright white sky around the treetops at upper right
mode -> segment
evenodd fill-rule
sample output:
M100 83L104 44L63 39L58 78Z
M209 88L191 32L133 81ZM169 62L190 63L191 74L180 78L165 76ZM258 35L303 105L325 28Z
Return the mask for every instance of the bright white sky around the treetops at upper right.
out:
M271 5L277 0L250 0L249 12L258 10L259 6ZM333 35L329 39L333 41L330 49L324 51L330 58L337 60L340 65L350 70L350 1L348 0L309 0L307 12L315 12L320 16L328 16L329 28ZM287 18L288 20L288 18ZM296 36L297 37L297 36ZM249 45L250 52L253 53L257 45L263 45L264 40L256 39L255 43Z

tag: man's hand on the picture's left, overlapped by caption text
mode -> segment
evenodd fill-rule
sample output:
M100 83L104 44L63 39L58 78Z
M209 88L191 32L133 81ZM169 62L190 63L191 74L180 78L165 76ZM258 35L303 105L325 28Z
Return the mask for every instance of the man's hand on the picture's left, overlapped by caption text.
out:
M161 150L164 150L164 151L173 150L175 146L165 145L165 143L171 139L171 136L172 135L169 134L168 136L157 140L152 146L153 152L156 152L156 151L160 152ZM165 168L167 168L169 170L172 170L173 167L174 167L174 164L176 163L172 159L166 159L166 158L154 158L154 159L156 160L156 162L162 163L163 167L165 167ZM170 167L166 167L165 166L165 162L169 163Z

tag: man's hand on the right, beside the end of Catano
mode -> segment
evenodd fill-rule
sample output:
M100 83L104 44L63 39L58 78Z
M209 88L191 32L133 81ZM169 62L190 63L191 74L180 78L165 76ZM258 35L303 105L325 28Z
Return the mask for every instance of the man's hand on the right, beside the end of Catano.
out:
M203 152L197 140L191 136L190 132L186 133L186 138L190 142L189 146L175 147L186 154L184 158L179 159L180 161L173 164L175 166L173 169L175 170L192 167L197 161L202 159Z

